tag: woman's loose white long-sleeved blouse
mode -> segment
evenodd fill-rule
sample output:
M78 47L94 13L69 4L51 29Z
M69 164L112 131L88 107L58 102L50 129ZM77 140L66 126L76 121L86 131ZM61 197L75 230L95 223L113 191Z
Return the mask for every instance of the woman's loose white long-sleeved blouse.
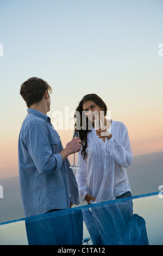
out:
M99 203L131 192L125 169L133 161L128 130L122 122L111 121L110 140L105 139L103 142L92 128L87 134L87 157L83 159L82 148L78 152L76 179L83 201L87 193L96 198L90 203Z

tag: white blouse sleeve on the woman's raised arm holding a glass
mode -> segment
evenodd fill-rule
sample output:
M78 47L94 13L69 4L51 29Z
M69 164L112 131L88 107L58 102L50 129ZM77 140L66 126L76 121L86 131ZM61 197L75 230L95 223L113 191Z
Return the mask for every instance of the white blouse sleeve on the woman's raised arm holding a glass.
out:
M111 139L107 142L107 150L118 164L127 168L133 162L133 154L131 152L128 130L124 124L119 131L118 137L120 138L116 139L112 135Z

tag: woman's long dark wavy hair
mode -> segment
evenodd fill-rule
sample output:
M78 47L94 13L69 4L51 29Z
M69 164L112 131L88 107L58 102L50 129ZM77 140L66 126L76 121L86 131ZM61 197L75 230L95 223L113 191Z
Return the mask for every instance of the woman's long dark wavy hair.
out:
M79 131L80 140L82 140L82 146L83 146L82 155L83 155L84 159L87 156L87 153L86 153L87 134L90 132L90 129L88 129L88 128L90 127L89 126L89 122L91 122L90 120L88 120L88 118L86 117L85 113L82 112L82 111L84 111L83 110L83 104L85 102L87 102L87 100L92 100L98 106L103 108L104 109L104 115L106 115L106 112L108 110L107 106L103 102L103 100L97 94L94 94L94 93L85 95L83 97L83 99L80 101L80 103L79 103L79 105L78 105L78 107L76 109L76 112L74 114L74 118L76 118L75 127L76 127L76 130ZM83 114L83 116L82 116L82 114ZM84 122L84 124L83 124L83 122ZM86 129L82 129L83 126L85 126Z

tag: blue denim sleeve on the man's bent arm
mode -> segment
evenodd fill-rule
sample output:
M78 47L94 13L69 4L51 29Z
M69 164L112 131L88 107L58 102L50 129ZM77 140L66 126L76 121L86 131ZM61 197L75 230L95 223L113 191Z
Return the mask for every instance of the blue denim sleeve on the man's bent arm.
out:
M45 127L40 124L30 126L27 130L26 142L30 157L41 174L50 174L61 168L62 156L59 153L52 153Z

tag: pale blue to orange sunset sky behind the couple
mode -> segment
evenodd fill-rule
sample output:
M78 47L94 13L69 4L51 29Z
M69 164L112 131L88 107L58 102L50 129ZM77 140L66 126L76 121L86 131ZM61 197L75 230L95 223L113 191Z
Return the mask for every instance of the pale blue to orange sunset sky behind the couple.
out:
M32 76L53 88L52 123L96 93L126 124L134 156L163 151L162 10L162 0L0 0L0 178L18 175L19 92ZM65 147L72 130L58 133Z

